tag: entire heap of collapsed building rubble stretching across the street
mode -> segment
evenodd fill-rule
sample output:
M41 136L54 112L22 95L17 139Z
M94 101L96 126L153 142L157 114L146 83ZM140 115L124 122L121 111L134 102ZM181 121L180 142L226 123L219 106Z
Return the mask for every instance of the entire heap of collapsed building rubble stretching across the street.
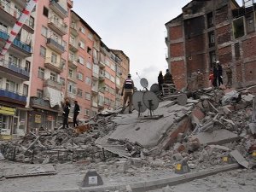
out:
M48 164L95 163L101 174L134 175L175 169L184 160L191 170L238 162L255 163L256 99L253 89L236 90L240 99L222 102L234 90L197 90L188 93L186 105L162 101L155 113L160 119L138 119L137 113L98 114L90 129L38 131L1 142L0 160ZM147 113L147 112L145 112ZM236 151L236 153L234 152ZM233 156L232 156L233 153ZM240 162L238 162L240 163Z

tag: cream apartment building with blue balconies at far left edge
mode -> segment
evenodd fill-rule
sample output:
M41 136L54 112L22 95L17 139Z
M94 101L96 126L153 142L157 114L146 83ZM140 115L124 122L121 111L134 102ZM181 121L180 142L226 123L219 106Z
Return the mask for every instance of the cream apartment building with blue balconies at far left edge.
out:
M0 47L6 44L26 1L0 2ZM17 34L8 52L0 59L0 133L24 135L27 125L29 79L32 66L34 14Z

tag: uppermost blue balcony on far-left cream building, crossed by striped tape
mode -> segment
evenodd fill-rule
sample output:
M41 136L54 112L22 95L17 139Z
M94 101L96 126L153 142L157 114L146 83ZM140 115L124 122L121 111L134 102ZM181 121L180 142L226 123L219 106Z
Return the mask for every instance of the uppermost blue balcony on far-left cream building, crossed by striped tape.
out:
M8 40L8 38L9 38L9 35L8 35L7 32L0 31L1 46L4 46L4 44ZM25 56L25 57L28 57L28 56L32 55L31 46L21 42L17 38L15 38L15 40L14 40L12 46L11 46L11 49L14 49L15 52L17 52L17 54L20 54L20 55Z

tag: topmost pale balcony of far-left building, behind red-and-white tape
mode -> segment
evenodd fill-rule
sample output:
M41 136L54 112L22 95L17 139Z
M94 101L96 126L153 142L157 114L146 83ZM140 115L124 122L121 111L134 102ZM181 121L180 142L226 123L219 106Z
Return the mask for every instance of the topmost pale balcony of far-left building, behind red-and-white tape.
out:
M26 6L26 0L16 0L15 5L18 5L20 8L24 8ZM9 3L4 3L3 1L0 0L0 15L1 19L3 19L9 26L13 26L16 20L20 17L21 15L21 10L17 9L12 9L9 5ZM26 29L26 31L33 33L33 23L29 22L29 19L26 20L22 27Z

